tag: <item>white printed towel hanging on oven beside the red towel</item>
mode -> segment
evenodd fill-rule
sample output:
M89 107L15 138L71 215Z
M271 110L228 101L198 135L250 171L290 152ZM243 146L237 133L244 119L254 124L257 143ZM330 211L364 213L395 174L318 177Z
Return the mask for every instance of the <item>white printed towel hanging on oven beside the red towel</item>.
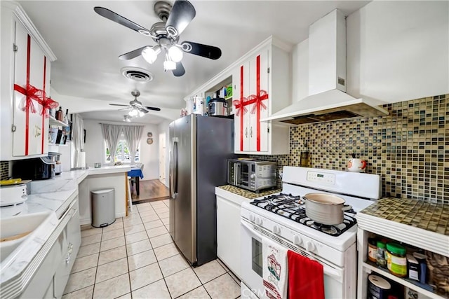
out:
M267 298L287 298L287 249L264 236L262 236L262 277Z

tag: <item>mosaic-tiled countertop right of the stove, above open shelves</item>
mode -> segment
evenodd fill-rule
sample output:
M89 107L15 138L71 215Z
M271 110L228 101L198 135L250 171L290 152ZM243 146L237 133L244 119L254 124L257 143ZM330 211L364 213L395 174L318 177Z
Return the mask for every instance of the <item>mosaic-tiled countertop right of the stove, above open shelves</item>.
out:
M449 235L449 205L406 198L385 197L360 211L361 214Z

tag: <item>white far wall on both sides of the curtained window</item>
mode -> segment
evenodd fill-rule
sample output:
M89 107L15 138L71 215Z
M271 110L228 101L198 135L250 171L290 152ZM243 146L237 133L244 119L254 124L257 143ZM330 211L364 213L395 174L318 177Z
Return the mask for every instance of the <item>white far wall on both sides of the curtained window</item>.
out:
M86 162L88 166L94 165L95 162L101 162L105 165L105 141L102 137L100 123L108 123L112 125L128 125L124 123L105 122L102 120L84 120L84 129L86 130L86 144L84 151L86 152ZM140 162L145 165L143 169L142 180L158 179L159 177L159 128L157 125L145 125L140 141ZM147 144L147 133L152 132L153 144Z

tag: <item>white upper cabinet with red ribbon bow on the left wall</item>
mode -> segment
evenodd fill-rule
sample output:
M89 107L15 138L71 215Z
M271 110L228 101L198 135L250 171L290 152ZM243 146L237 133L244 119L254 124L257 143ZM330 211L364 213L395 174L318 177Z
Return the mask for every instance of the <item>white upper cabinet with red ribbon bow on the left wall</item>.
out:
M48 118L42 114L43 93L27 86L48 97L55 55L22 8L10 1L1 2L1 53L0 160L46 155Z

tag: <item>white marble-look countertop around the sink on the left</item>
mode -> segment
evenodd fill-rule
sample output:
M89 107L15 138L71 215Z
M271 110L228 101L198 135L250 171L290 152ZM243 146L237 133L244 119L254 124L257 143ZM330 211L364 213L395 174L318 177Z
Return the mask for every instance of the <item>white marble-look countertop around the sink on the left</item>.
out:
M72 170L62 172L52 179L43 181L32 181L31 192L27 200L22 204L11 207L2 207L0 209L0 218L11 218L25 214L39 213L43 211L52 211L53 214L46 221L45 228L36 230L29 235L23 242L27 246L20 251L12 260L6 259L0 263L0 284L1 288L16 288L26 281L23 275L29 275L27 269L30 262L39 253L39 250L46 244L52 232L58 227L60 216L65 209L78 195L78 185L86 179L88 175L114 174L119 172L128 172L129 165L107 166L101 168L89 167L88 169ZM7 262L7 263L6 263ZM14 286L12 285L14 284Z

